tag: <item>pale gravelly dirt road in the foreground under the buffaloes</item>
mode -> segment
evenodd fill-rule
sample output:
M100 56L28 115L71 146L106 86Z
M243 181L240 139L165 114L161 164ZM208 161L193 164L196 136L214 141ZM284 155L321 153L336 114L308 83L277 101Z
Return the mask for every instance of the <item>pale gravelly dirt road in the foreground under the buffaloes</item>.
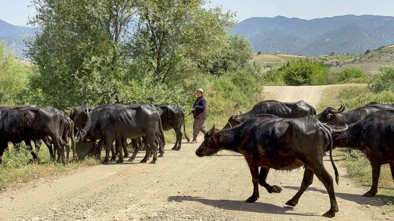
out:
M303 169L271 170L267 182L281 186L282 193L269 194L260 186L260 199L244 203L253 185L243 156L223 151L198 158L202 140L183 144L181 151L167 144L157 164L139 164L144 155L139 153L136 162L80 168L11 188L0 195L0 220L328 220L321 215L329 210L329 197L316 177L296 207L284 204L299 189ZM324 164L333 176L328 157ZM386 202L362 197L366 189L355 188L343 168L338 171L339 212L331 220L394 219L382 215Z

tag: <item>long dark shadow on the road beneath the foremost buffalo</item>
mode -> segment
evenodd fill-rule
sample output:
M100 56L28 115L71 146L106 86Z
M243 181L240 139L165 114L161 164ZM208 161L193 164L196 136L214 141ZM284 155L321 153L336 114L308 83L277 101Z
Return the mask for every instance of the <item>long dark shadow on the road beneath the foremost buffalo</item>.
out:
M191 197L191 196L170 196L168 197L168 201L175 202L183 202L183 201L193 201L199 202L205 205L212 206L214 208L220 208L224 210L236 210L236 211L245 211L245 212L258 212L264 214L282 214L282 215L303 215L310 216L313 213L286 213L286 211L294 211L293 207L290 206L276 206L269 203L245 203L244 201L239 200L228 200L228 199L204 199L202 197Z

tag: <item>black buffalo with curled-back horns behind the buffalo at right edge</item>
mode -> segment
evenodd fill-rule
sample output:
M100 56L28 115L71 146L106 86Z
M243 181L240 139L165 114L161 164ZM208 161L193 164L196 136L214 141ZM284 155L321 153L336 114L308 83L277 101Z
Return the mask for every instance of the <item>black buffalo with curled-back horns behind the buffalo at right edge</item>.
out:
M362 120L368 114L378 111L379 109L375 107L360 107L357 109L349 110L348 112L343 112L345 110L345 105L342 103L338 110L332 107L327 107L323 112L316 115L315 118L320 120L322 123L328 123L331 125L344 125L352 124L359 120Z

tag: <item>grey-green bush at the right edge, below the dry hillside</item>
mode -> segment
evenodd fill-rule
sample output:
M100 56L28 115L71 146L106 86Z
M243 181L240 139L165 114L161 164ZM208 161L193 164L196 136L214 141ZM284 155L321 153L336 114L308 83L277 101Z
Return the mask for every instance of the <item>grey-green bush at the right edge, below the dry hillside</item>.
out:
M379 66L379 70L372 77L368 87L372 92L394 92L394 65Z

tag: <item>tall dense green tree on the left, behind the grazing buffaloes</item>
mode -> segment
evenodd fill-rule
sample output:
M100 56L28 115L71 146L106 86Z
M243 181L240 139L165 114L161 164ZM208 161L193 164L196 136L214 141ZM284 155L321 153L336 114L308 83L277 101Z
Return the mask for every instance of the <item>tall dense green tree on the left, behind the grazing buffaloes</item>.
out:
M78 103L118 101L126 58L121 40L136 12L129 0L33 0L29 24L43 27L27 39L39 66L33 83L64 109ZM65 96L67 94L67 96Z

